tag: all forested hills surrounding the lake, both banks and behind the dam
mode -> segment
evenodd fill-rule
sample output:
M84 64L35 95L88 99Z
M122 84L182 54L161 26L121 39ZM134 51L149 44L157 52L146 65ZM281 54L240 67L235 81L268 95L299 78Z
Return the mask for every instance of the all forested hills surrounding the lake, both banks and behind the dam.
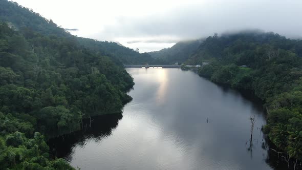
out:
M200 76L261 98L264 132L287 160L301 161L301 57L302 40L257 31L140 54L73 36L31 9L0 0L0 169L74 169L51 159L46 139L80 130L84 118L121 113L134 85L122 64L184 61L210 61Z

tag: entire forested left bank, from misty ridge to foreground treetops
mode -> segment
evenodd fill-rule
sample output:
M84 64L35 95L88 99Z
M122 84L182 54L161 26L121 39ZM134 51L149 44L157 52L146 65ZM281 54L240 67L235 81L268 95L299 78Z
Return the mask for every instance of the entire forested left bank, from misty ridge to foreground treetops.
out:
M122 63L142 56L75 37L0 0L0 169L73 169L50 159L45 138L80 130L90 116L121 113L134 85Z

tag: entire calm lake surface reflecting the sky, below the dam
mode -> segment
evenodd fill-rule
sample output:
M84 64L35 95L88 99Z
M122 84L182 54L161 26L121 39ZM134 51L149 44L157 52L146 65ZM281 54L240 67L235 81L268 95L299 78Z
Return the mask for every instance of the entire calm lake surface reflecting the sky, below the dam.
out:
M95 117L91 129L50 140L57 157L81 170L285 169L260 130L261 105L190 71L126 70L135 86L123 114Z

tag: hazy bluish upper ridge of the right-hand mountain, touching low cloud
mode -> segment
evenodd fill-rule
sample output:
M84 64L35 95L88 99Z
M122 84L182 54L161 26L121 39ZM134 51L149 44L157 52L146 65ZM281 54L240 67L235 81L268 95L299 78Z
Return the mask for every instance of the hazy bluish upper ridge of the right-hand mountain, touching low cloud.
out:
M257 46L267 45L268 49L284 49L302 56L300 40L288 39L285 36L273 32L263 32L259 30L248 30L237 33L228 33L218 36L217 34L206 38L193 53L186 63L190 65L202 64L204 60L220 59L238 56L239 65L253 65L254 58L249 54Z

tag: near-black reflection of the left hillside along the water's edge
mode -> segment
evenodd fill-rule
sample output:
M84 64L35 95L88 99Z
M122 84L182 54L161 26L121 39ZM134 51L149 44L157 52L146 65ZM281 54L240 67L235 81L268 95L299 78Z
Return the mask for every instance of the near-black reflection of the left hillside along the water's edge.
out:
M85 119L83 120L83 130L50 139L48 141L50 153L53 157L66 158L69 162L72 160L73 147L84 147L87 141L100 142L103 138L111 136L112 130L117 128L122 117L122 114L93 117L91 128L89 128L89 119Z

